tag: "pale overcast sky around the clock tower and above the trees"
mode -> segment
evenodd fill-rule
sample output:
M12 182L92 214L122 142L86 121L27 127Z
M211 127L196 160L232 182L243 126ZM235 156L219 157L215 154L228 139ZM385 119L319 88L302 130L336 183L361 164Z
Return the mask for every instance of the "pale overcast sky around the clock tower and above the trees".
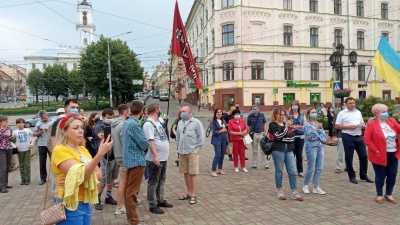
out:
M145 70L151 73L153 66L168 59L175 0L89 2L94 10L95 33L114 36L132 31L119 38L128 41L134 52L142 54L139 58ZM178 1L184 23L193 2ZM78 19L77 3L76 0L1 0L0 62L25 67L23 56L39 49L59 44L79 46L79 35L75 27Z

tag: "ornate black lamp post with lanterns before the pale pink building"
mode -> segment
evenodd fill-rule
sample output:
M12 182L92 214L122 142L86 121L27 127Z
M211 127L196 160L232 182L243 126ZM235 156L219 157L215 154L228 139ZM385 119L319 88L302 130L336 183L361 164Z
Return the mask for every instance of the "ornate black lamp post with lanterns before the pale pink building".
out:
M329 61L334 70L339 72L340 89L343 90L343 67L355 67L357 63L357 52L352 51L349 54L351 65L344 66L342 64L342 56L344 54L343 44L338 44L336 46L336 51L329 57ZM340 97L340 104L343 106L344 97Z

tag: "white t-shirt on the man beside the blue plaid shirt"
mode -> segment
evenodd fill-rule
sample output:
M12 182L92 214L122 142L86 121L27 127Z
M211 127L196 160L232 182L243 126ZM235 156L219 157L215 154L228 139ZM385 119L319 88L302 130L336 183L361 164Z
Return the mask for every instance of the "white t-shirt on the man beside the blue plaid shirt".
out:
M147 139L154 140L154 146L156 147L156 152L159 160L161 162L167 161L169 156L169 141L167 134L165 133L160 121L154 121L150 118L148 118L147 120L151 122L145 122L143 124L143 134ZM146 160L154 160L154 156L151 153L150 149L146 154Z

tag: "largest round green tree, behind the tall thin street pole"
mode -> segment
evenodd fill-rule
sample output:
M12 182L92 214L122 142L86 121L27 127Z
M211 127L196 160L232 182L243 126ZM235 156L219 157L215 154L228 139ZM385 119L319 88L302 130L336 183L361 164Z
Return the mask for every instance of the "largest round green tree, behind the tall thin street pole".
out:
M119 103L125 96L134 93L132 80L143 79L143 68L126 42L100 37L99 41L89 45L86 52L82 53L81 74L89 93L93 96L109 96L107 41L110 44L113 101Z

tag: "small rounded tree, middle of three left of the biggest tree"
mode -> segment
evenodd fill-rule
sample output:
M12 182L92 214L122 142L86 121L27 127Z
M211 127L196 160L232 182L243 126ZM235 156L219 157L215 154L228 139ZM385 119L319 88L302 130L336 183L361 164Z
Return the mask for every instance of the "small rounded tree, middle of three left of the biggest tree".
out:
M48 66L43 72L43 87L46 94L56 99L60 95L68 94L69 72L61 65Z

